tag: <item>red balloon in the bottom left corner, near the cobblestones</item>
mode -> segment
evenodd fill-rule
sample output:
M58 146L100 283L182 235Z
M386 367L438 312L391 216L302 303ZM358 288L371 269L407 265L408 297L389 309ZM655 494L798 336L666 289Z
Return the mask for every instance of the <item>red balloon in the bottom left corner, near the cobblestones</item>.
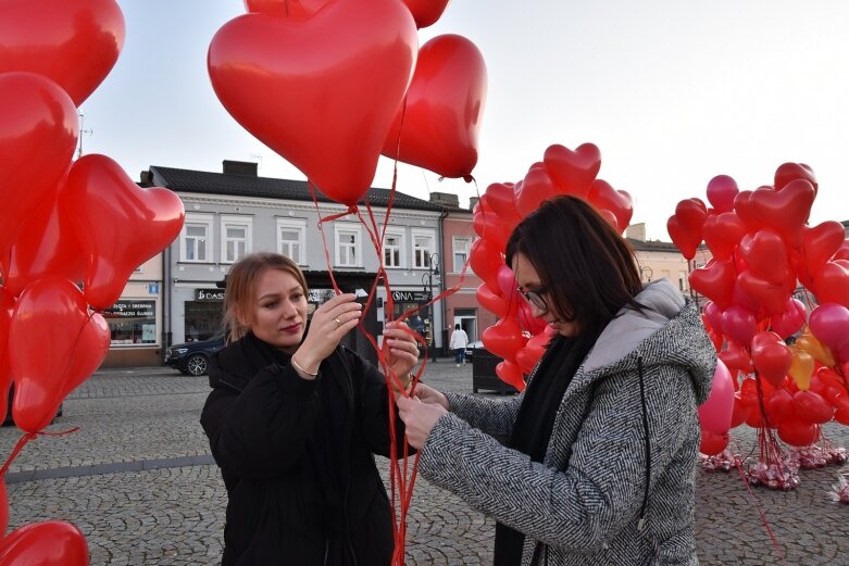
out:
M63 520L25 525L0 540L0 566L88 566L88 544Z

